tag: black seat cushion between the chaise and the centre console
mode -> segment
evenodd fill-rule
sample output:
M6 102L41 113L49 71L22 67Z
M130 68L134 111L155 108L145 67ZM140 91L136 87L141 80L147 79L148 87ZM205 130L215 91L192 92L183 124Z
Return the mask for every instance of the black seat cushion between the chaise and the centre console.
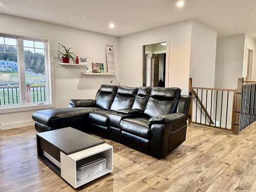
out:
M93 123L108 126L110 123L110 115L117 114L114 111L94 111L89 114L89 119Z

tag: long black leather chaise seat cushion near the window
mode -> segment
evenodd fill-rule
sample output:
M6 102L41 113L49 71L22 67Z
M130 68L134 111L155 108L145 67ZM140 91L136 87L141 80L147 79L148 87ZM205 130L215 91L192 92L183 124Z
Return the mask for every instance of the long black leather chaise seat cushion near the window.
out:
M99 108L62 108L40 110L33 113L32 118L36 122L47 125L51 128L58 128L66 124L72 126L71 121L88 118L89 113L99 111Z

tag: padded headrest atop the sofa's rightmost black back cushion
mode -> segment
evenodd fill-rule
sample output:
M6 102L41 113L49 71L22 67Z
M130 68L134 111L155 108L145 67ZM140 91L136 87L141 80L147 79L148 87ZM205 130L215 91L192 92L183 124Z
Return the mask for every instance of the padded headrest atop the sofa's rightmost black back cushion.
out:
M157 88L153 87L151 90L151 96L158 100L173 100L179 98L181 89L179 88Z

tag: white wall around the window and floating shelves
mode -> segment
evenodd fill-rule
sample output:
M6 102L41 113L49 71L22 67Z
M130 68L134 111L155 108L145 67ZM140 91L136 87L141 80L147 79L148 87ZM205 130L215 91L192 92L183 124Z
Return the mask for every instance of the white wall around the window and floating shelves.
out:
M114 45L116 70L118 73L118 38L78 30L74 28L54 25L37 20L15 17L0 14L0 33L10 33L20 36L34 38L47 38L50 40L50 53L55 54L58 49L58 42L68 47L73 47L73 51L80 55L88 55L91 62L106 62L105 44ZM55 58L56 59L56 58ZM55 73L56 107L68 106L71 98L94 98L97 89L101 84L118 84L118 75L115 76L84 76L81 72L84 67L60 66L58 60L51 60L51 67ZM1 114L0 123L2 129L18 127L32 124L33 111Z

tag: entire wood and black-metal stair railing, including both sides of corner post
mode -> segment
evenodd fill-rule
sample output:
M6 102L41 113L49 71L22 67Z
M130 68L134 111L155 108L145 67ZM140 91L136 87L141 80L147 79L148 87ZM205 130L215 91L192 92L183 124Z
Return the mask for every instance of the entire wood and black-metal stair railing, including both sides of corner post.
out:
M193 87L188 123L240 134L256 121L256 81L238 79L237 89Z

